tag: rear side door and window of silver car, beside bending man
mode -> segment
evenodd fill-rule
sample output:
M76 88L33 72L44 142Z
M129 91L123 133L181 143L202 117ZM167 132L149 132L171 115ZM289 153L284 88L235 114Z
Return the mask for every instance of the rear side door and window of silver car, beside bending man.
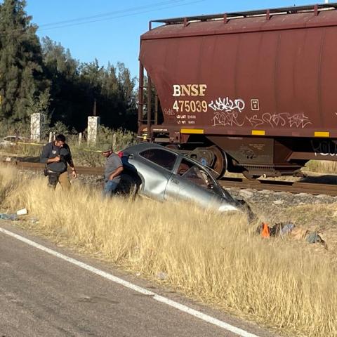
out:
M137 161L131 161L142 176L140 192L147 197L164 200L166 185L169 182L178 155L161 148L150 148L138 154Z

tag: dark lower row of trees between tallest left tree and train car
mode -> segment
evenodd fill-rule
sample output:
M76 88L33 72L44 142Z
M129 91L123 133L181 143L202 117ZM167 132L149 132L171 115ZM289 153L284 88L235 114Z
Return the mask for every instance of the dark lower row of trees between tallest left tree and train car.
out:
M101 123L136 131L135 79L121 62L103 67L98 60L79 63L48 37L41 40L46 77L51 81L51 123L83 131L96 102Z

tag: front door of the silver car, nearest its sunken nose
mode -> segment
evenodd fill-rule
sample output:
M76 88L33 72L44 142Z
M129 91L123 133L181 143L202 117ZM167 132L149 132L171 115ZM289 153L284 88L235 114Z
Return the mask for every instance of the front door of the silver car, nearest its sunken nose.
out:
M169 179L164 199L194 201L202 206L220 205L222 196L214 187L217 188L213 178L202 166L183 157Z

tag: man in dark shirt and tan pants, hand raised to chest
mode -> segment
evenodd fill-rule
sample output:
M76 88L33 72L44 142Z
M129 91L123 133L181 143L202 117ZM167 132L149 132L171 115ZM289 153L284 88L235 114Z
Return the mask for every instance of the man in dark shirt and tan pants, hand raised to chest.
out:
M67 172L67 164L72 168L72 176L77 177L77 173L72 161L70 147L65 143L65 136L58 135L55 140L44 146L41 163L46 164L48 172L48 186L55 188L58 183L61 187L69 188L70 180Z

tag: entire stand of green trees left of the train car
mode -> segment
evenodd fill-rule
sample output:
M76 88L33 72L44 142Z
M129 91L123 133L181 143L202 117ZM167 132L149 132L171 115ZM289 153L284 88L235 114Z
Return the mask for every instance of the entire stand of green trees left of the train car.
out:
M25 0L4 0L0 19L0 121L48 112L51 124L84 131L95 104L105 126L136 131L136 79L124 63L79 62L49 37L40 42Z

